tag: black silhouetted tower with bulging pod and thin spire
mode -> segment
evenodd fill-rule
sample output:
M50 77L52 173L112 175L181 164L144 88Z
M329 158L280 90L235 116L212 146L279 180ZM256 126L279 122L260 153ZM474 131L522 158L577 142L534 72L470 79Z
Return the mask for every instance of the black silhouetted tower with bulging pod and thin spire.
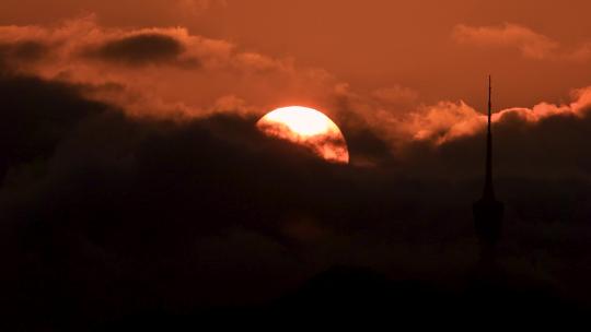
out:
M496 259L496 247L501 236L503 205L495 198L493 187L493 133L490 117L491 79L488 76L488 130L486 134L486 167L483 197L473 205L474 226L480 245L480 262L490 263Z

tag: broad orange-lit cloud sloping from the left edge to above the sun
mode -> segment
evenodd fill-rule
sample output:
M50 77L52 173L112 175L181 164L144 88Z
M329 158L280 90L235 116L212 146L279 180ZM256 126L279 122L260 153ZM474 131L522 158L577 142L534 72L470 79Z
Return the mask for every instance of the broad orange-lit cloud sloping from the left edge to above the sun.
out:
M294 97L327 104L337 82L322 69L299 68L291 58L186 28L107 28L93 15L51 27L0 27L0 44L25 42L44 45L47 52L36 61L4 57L11 68L65 83L119 86L86 93L137 117L206 116L219 111L219 100L227 96L243 100L234 110L241 114L262 115Z

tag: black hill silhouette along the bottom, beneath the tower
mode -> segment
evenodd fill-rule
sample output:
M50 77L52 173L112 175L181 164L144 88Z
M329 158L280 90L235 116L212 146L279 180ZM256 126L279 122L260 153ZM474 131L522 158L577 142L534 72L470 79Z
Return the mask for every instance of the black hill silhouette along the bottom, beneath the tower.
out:
M279 298L255 306L195 308L179 315L138 312L96 327L186 329L221 327L309 327L313 323L413 323L415 327L470 325L501 321L529 325L573 323L589 311L561 299L556 289L498 270L486 276L468 272L453 285L389 278L369 268L336 265Z

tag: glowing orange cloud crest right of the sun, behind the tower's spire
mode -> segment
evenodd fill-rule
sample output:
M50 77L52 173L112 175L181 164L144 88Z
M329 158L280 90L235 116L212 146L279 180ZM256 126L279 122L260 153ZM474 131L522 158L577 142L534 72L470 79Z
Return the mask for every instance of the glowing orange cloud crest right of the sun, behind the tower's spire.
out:
M486 128L486 115L462 100L403 107L350 92L344 93L341 98L343 108L357 110L352 118L345 118L345 126L371 128L394 150L416 141L441 145L477 135ZM531 108L501 109L494 112L493 122L518 121L528 127L553 117L586 118L591 106L591 87L572 91L571 98L572 102L563 105L541 102Z

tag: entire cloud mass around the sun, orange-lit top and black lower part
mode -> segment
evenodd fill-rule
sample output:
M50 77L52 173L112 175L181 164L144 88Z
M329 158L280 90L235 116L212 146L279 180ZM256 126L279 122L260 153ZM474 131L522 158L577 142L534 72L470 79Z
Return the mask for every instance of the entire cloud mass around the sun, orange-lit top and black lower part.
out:
M3 26L0 45L0 305L16 320L260 303L334 264L443 281L475 260L485 117L466 103L359 92L177 27L86 17ZM256 129L290 95L327 109L350 165ZM589 290L590 109L580 88L494 116L501 260L573 297Z

